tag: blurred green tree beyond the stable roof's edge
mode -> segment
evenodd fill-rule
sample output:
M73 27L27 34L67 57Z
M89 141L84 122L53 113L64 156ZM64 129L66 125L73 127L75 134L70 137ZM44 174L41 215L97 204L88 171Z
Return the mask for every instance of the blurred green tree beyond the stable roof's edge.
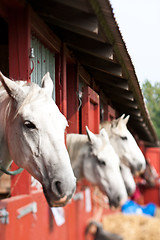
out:
M145 80L142 92L157 136L160 139L160 83L152 85L149 80Z

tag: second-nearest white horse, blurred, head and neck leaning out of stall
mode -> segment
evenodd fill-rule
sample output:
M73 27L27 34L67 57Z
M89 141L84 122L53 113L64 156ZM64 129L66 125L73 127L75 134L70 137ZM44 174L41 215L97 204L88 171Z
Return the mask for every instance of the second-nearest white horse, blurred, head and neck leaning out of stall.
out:
M67 148L76 178L86 178L108 196L110 205L118 206L127 200L120 173L120 160L109 143L104 129L87 135L67 134Z

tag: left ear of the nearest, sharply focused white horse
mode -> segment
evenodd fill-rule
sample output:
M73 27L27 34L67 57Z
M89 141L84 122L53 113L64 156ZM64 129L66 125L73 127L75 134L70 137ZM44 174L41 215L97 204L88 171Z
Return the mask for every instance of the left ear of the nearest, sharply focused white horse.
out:
M0 80L2 82L3 87L5 88L6 92L10 97L12 97L15 100L19 100L20 97L23 96L22 88L16 82L5 77L1 72L0 72Z

